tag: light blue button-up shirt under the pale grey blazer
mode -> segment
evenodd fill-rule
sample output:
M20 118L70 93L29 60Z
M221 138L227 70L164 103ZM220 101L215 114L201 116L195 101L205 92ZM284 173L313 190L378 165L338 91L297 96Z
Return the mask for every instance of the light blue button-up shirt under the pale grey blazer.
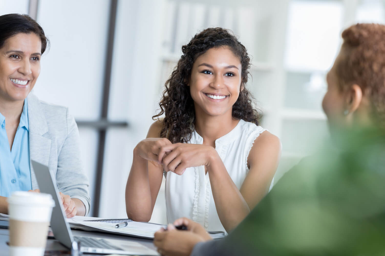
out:
M14 191L31 189L28 111L25 99L12 150L9 148L5 130L5 117L0 113L0 196L9 197Z

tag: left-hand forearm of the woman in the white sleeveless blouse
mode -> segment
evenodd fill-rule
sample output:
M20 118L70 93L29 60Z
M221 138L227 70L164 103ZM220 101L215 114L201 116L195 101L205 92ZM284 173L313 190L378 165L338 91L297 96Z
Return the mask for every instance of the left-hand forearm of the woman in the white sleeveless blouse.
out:
M134 157L126 185L127 216L135 221L149 221L152 215L151 189L149 183L148 161Z

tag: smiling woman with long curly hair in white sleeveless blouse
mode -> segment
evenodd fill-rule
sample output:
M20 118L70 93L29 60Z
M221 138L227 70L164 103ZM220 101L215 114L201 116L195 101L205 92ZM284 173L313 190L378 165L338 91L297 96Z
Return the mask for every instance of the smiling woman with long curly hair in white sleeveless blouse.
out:
M231 32L208 28L182 52L157 121L134 149L127 215L150 220L164 175L169 222L187 216L206 230L230 231L268 192L280 140L258 126L245 88L250 58Z

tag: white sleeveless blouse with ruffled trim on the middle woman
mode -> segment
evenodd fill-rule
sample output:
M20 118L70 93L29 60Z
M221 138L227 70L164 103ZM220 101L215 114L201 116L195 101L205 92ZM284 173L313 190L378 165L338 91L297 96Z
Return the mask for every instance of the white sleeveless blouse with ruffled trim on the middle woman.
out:
M215 140L215 149L238 189L249 171L247 158L254 140L265 130L240 120L233 130ZM203 138L194 131L189 143L202 144ZM167 172L165 176L168 223L187 217L208 231L225 231L215 208L209 176L208 173L205 175L204 166L189 167L182 175Z

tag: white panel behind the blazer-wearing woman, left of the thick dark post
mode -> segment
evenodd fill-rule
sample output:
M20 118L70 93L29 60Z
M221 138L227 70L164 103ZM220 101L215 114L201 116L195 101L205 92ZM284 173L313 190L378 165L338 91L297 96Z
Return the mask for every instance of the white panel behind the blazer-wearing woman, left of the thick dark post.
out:
M42 57L33 92L42 100L68 106L77 120L100 116L108 10L105 0L39 0L37 21L50 40L50 49ZM79 133L92 203L99 137L91 128L80 127Z

